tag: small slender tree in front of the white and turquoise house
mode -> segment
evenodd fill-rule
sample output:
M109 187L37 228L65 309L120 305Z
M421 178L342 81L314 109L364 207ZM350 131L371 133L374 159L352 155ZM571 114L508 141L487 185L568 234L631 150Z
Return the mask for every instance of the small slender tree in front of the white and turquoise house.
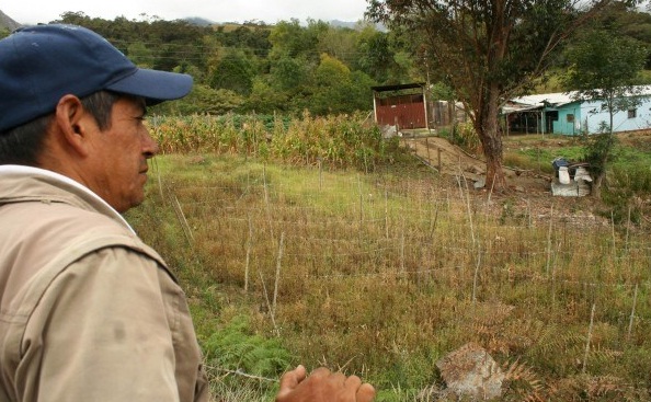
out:
M613 117L630 111L642 102L642 87L636 85L648 54L642 43L619 33L619 30L594 30L579 37L568 50L570 68L563 77L567 88L574 90L575 100L597 101L609 120L596 134L587 149L587 159L596 173L593 195L599 197L602 182L615 145Z

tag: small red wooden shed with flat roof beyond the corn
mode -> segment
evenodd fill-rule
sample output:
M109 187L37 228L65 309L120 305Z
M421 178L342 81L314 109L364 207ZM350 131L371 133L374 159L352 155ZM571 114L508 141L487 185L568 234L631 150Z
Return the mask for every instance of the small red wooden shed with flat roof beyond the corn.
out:
M424 83L373 87L373 110L378 125L429 128Z

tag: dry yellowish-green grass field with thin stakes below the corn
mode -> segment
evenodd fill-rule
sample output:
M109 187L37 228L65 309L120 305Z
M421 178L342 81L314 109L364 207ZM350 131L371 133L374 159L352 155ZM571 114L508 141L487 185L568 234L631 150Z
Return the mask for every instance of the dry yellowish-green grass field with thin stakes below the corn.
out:
M422 172L156 164L128 218L179 272L201 341L243 312L297 363L361 375L380 401L413 400L468 342L512 375L505 401L651 400L643 228L566 219L551 198L545 215L489 203Z

